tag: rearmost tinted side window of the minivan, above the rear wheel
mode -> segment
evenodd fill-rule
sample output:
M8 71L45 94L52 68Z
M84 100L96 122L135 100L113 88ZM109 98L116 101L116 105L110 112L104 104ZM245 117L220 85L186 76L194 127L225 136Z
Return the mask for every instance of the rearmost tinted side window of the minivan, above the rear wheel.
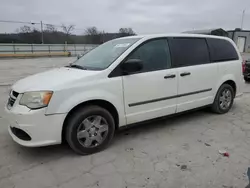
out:
M229 41L223 39L207 38L207 43L209 46L212 62L239 59L234 46Z

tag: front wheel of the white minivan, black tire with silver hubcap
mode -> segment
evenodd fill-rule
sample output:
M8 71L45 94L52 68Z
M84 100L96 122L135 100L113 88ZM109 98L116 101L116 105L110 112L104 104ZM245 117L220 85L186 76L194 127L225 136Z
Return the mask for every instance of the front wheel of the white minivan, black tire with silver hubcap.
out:
M100 120L100 126L104 127L105 125L105 129L108 129L107 132L99 133L98 130L92 131L92 129L98 129L93 126L95 124L94 121L98 119L97 117L99 117L99 119L100 117L103 118ZM93 122L91 118L93 118ZM110 144L115 132L113 116L106 109L94 105L79 108L69 118L66 126L65 136L69 146L76 153L81 155L92 154L105 149ZM99 127L99 131L100 130L101 128ZM80 132L84 133L83 138L79 138L81 137ZM93 138L100 137L100 135L105 136L103 136L102 142L98 143L97 140L94 140ZM86 146L90 142L94 146Z

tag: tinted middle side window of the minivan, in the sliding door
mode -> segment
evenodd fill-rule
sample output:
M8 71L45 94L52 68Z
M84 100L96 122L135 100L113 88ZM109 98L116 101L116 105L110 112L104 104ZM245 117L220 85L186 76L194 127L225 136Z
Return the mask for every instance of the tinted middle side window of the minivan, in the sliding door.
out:
M174 67L210 63L208 46L204 38L169 39Z

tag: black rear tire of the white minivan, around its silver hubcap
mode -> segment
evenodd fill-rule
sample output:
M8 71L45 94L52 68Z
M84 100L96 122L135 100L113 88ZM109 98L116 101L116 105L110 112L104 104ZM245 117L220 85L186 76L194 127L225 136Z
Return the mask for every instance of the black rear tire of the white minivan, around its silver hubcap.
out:
M229 104L229 105L226 105L225 108L223 108L221 106L222 104L220 102L220 97L222 97L224 91L229 91L230 95L231 95L231 98L227 98L227 100L228 100L227 104ZM232 86L230 86L229 84L221 85L221 87L217 91L214 102L212 104L212 111L217 113L217 114L225 114L225 113L227 113L231 109L231 107L233 105L234 97L235 97L235 93L234 93L234 90L233 90Z

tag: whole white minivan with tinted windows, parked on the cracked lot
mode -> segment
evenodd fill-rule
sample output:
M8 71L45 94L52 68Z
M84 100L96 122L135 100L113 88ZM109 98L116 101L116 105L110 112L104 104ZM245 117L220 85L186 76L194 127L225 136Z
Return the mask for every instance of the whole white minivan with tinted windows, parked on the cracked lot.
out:
M109 41L74 63L15 83L9 133L28 147L66 140L104 149L122 126L210 106L226 113L242 91L242 59L229 38L166 34Z

